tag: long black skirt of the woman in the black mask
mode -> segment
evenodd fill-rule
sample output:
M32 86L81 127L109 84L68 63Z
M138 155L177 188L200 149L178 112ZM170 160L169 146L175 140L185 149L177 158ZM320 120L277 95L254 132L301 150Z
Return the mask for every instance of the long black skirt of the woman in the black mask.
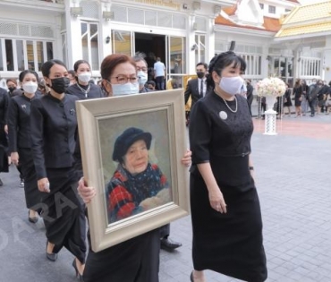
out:
M81 263L86 253L85 206L77 193L77 177L72 167L47 168L50 192L42 192L42 217L47 240L55 253L65 247Z

